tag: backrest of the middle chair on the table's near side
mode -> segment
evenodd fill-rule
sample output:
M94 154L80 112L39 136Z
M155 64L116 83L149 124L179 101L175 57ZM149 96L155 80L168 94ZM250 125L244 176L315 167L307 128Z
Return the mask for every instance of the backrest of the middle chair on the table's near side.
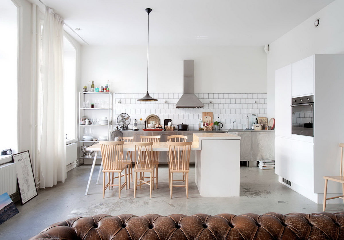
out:
M153 170L154 165L152 162L153 156L153 142L141 143L133 142L135 145L135 169L149 169Z

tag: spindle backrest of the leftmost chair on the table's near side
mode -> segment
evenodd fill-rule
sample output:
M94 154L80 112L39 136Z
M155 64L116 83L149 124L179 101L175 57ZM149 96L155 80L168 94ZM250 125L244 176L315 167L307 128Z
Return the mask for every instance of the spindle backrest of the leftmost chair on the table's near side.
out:
M99 141L104 170L121 170L124 141Z

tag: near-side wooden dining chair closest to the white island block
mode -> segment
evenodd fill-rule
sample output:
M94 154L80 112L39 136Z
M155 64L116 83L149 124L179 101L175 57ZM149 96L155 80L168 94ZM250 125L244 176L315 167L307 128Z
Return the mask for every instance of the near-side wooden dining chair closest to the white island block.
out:
M186 198L189 198L189 172L190 172L190 153L192 142L167 142L169 146L170 158L170 191L172 198L173 187L186 187ZM185 174L185 185L173 185L173 181L184 181L184 179L173 179L174 173ZM184 178L184 177L183 177Z

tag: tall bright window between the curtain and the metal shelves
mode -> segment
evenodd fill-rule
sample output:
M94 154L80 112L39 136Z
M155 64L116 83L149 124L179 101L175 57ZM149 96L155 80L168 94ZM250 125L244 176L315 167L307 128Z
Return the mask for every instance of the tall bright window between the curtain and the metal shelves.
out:
M63 48L64 126L68 140L76 138L76 50L66 37Z

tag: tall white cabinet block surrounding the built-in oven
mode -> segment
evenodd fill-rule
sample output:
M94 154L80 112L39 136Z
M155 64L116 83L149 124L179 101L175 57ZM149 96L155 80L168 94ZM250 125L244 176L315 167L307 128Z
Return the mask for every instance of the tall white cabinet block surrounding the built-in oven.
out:
M312 55L276 71L275 173L316 203L323 201L323 176L339 175L343 90L342 54ZM314 137L291 134L291 98L307 95L314 95ZM339 185L329 183L329 197L342 192Z

